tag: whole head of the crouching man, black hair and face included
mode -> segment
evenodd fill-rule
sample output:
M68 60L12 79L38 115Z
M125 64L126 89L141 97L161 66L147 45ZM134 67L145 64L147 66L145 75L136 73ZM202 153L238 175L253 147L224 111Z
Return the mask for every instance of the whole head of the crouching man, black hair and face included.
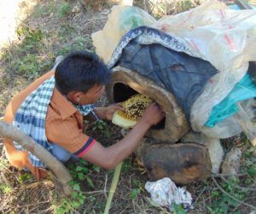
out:
M108 81L109 70L106 65L97 55L87 51L67 55L55 69L56 88L79 104L95 102Z

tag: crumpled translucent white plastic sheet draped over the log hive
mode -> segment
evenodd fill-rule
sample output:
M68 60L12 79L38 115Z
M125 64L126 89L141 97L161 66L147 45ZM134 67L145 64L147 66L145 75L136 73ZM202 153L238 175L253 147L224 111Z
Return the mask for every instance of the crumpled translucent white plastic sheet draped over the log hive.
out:
M228 9L224 3L212 0L187 12L154 20L143 9L116 6L103 30L92 35L96 53L108 62L120 38L137 26L151 26L175 35L194 50L192 56L210 61L218 69L192 107L193 130L218 138L241 132L232 117L213 128L204 124L212 107L245 75L248 61L256 61L256 11Z

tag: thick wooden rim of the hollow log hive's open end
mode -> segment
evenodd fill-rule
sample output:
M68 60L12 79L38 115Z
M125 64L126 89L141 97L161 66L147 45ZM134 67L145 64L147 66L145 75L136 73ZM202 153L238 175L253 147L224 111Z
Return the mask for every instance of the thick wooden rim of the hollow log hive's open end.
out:
M110 83L106 87L110 102L127 100L137 93L148 95L166 113L165 121L148 130L147 136L160 142L177 142L188 130L189 125L184 113L177 105L177 101L171 92L161 88L149 78L145 78L137 72L132 72L125 67L114 67Z

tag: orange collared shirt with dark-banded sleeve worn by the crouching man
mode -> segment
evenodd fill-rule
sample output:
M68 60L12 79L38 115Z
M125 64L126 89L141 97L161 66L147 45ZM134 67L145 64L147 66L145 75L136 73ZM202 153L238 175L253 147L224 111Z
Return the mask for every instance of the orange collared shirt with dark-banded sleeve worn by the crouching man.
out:
M37 89L44 80L54 75L54 73L54 71L47 72L44 76L28 85L19 95L16 95L15 98L9 102L3 120L7 123L12 123L15 119L15 113L21 103L25 101L26 96L30 95L33 90ZM96 142L95 140L91 141L89 136L84 135L83 129L82 114L55 88L45 119L45 132L48 141L54 142L67 149L70 153L76 153L77 156L80 157ZM33 166L29 160L28 153L26 151L17 150L12 140L3 137L3 144L11 165L18 168L28 168L38 180L47 175L47 171L44 169Z

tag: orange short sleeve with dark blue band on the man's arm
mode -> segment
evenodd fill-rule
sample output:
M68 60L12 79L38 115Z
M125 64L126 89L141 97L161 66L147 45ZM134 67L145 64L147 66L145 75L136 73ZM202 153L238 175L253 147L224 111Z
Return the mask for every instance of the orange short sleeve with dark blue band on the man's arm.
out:
M49 142L58 144L78 157L86 153L96 142L92 137L84 135L75 117L61 119L58 114L48 115L45 130Z

